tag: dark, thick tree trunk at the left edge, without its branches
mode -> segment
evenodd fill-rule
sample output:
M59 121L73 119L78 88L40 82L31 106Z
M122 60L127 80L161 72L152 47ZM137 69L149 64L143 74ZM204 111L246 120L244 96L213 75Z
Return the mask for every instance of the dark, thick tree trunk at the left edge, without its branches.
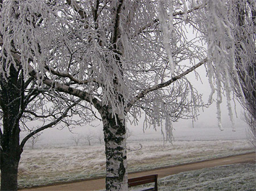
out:
M1 131L1 190L17 190L17 173L22 148L19 145L19 112L22 103L22 83L19 72L10 67L10 76L0 76L0 104L3 111Z

